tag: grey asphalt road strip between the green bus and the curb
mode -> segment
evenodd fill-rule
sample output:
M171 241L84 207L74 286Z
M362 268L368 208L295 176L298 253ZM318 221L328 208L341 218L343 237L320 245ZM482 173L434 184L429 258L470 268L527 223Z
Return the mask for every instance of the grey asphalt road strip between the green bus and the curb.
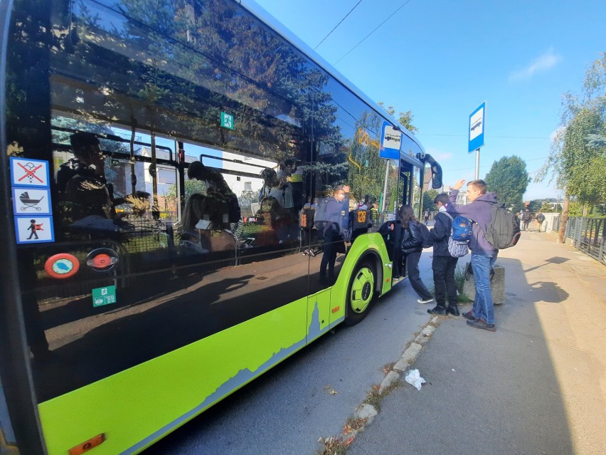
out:
M430 261L424 253L422 276ZM361 323L337 327L144 453L314 454L430 320L417 299L408 281L398 283Z

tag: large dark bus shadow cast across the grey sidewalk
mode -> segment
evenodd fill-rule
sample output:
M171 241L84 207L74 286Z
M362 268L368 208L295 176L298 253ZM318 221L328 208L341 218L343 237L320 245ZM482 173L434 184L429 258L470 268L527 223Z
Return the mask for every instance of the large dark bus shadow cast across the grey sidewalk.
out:
M420 392L404 384L387 397L348 455L573 453L534 307L562 302L568 293L557 283L528 283L519 260L499 257L498 263L506 269L507 293L506 303L495 307L496 333L442 318L414 365L427 384Z

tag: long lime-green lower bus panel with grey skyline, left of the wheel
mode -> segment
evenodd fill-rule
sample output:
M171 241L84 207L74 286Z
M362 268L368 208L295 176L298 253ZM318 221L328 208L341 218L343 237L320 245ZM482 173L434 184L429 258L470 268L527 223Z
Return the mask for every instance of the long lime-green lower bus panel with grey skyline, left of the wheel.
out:
M306 308L296 300L39 404L48 454L97 434L97 455L141 451L303 347Z

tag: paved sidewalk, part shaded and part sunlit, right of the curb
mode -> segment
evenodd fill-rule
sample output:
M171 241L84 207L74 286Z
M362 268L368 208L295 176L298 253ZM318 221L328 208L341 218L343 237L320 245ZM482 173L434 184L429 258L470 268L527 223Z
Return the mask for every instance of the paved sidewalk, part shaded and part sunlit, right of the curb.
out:
M556 237L501 251L496 333L440 318L412 366L427 383L388 395L348 455L606 453L606 267Z

